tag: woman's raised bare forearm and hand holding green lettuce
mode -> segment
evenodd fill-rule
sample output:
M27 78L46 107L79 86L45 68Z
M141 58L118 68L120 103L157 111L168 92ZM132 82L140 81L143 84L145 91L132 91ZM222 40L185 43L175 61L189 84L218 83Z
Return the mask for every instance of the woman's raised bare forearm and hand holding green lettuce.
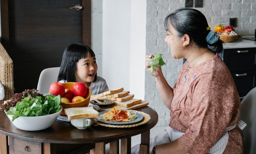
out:
M152 54L146 55L145 57L147 71L150 68L150 66L148 65L148 62L151 61L152 57L153 57ZM156 69L153 73L151 73L150 71L148 72L154 77L156 81L157 88L163 103L170 109L171 102L173 99L173 89L169 86L169 84L165 80L161 67L156 66Z

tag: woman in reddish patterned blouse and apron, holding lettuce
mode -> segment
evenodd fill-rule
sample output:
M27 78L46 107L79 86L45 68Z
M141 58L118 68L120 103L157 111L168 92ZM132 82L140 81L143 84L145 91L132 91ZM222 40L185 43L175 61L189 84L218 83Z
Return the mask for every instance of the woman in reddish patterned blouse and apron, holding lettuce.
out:
M223 42L210 30L205 16L195 9L171 13L165 18L165 28L165 42L172 57L187 61L173 88L166 82L161 67L149 72L170 109L169 126L150 139L151 153L243 153L239 95L218 55ZM147 70L152 57L146 55ZM138 145L132 153L138 153Z

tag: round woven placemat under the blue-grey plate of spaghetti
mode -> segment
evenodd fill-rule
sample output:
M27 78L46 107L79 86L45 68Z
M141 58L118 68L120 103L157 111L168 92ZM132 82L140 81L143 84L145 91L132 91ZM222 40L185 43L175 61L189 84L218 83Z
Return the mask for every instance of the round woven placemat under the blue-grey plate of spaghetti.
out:
M127 110L127 111L133 111L133 112L137 112L140 113L143 116L142 121L140 121L137 124L132 124L132 125L110 125L110 124L103 124L101 122L98 122L96 119L94 121L94 125L101 125L101 126L105 126L105 127L114 127L114 128L130 128L130 127L136 127L139 125L143 125L146 124L147 122L149 122L150 120L150 115L144 112L140 112L140 111L136 111L136 110Z

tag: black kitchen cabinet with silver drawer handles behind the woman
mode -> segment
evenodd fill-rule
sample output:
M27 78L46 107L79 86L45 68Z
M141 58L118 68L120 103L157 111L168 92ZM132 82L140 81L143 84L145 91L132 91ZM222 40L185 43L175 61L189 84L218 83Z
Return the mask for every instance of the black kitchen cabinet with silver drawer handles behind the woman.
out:
M230 70L241 99L255 86L256 48L224 49L220 54Z

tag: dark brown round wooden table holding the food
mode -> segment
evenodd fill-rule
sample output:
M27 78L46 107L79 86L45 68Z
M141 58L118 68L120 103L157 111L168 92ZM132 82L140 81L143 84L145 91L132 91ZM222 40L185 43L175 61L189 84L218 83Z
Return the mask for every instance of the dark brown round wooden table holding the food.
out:
M150 129L158 122L158 114L151 107L136 109L150 115L148 123L130 128L110 128L90 126L87 129L77 129L70 122L56 120L49 128L40 131L24 131L11 124L4 111L0 112L0 150L1 154L21 153L30 150L32 153L69 153L87 151L105 153L105 144L110 142L110 152L131 152L131 137L141 134L140 153L149 152ZM8 146L9 137L9 146ZM94 148L95 147L95 148Z

